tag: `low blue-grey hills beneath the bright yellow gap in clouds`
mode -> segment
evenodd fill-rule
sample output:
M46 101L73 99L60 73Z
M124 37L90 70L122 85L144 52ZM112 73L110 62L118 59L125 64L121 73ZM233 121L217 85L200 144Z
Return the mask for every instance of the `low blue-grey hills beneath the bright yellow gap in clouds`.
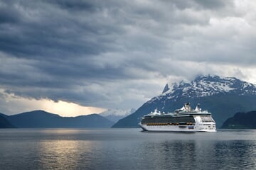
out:
M6 119L17 128L110 128L114 124L97 114L61 117L45 111L6 115Z

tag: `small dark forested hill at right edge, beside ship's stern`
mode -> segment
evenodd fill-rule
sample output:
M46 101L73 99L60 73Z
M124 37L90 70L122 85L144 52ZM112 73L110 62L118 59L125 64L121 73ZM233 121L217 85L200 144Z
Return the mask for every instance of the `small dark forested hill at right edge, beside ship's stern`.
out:
M228 118L221 128L256 129L256 111L236 113L232 118Z

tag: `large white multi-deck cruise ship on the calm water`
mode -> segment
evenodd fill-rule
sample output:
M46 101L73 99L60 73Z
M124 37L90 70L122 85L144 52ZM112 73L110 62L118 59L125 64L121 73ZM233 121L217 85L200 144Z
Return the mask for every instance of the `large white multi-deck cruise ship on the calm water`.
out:
M144 115L139 126L145 131L216 132L215 120L211 113L202 111L199 104L195 109L191 109L189 103L185 103L174 113L155 110Z

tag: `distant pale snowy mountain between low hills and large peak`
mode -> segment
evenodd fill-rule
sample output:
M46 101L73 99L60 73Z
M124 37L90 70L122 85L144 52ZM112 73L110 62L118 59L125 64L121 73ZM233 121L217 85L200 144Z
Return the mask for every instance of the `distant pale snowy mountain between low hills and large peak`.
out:
M134 113L136 109L128 109L128 110L121 110L121 109L109 109L105 112L100 113L103 117L107 118L108 120L117 123L118 120L126 117L127 115L130 115Z

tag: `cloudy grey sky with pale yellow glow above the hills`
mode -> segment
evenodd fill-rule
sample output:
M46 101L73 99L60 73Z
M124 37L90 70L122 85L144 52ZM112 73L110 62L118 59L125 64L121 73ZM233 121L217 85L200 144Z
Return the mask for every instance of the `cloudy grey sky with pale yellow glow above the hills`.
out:
M198 75L256 84L256 1L0 0L0 113L139 108Z

